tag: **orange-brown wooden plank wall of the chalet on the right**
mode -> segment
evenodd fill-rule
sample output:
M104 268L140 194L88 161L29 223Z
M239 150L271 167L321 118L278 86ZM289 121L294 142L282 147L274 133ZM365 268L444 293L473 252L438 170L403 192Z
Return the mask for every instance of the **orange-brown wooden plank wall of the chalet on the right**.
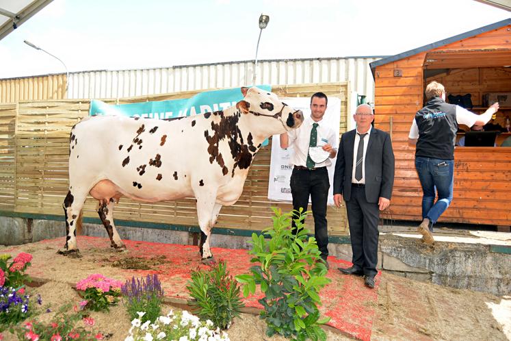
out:
M415 113L423 106L425 84L436 79L446 86L447 92L473 93L473 103L477 105L481 105L483 92L509 91L510 69L489 65L499 62L498 59L485 62L479 56L484 55L485 49L498 49L508 54L499 52L495 58L503 58L502 63L511 60L510 28L508 25L376 67L375 125L391 131L396 160L389 207L393 218L421 220L422 191L415 170L415 147L408 147L407 140ZM471 49L483 52L466 55ZM456 51L462 51L454 59L454 64L460 67L432 79L423 78L424 68L431 67L426 65L427 55L438 56L445 66L449 61L442 60L442 56ZM394 77L395 69L401 70L402 77ZM511 225L511 203L506 199L511 195L511 148L458 148L455 161L454 200L440 221Z

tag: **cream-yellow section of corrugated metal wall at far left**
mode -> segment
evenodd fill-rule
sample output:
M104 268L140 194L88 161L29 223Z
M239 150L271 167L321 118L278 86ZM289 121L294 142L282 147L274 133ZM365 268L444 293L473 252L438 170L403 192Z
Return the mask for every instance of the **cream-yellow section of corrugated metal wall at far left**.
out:
M0 79L0 103L32 99L63 99L66 74Z

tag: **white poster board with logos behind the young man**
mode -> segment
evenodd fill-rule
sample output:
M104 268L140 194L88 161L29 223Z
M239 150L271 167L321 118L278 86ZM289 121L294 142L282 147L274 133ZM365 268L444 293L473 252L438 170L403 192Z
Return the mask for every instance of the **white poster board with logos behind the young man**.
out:
M296 110L302 110L304 117L311 116L311 99L309 97L292 97L281 99L284 103ZM341 99L330 97L323 119L332 127L333 131L339 131L341 125ZM332 144L332 147L339 147L339 138ZM291 188L289 180L293 165L290 164L290 157L293 153L293 147L288 149L280 148L280 137L274 135L272 139L272 157L270 159L270 181L268 182L268 199L272 201L292 202ZM335 158L330 159L332 164L327 168L328 177L330 177L330 190L328 190L328 204L334 204L332 186L334 184ZM309 198L309 202L311 199ZM310 207L309 207L310 208Z

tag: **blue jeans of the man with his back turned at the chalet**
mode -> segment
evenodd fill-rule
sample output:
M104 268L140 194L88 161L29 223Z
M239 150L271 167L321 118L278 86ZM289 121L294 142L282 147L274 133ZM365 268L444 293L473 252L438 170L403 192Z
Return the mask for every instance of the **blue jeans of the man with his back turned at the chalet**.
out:
M454 160L415 157L415 169L422 186L422 218L428 218L432 225L443 214L452 201L454 184ZM436 189L436 190L435 190ZM434 199L438 192L438 200Z

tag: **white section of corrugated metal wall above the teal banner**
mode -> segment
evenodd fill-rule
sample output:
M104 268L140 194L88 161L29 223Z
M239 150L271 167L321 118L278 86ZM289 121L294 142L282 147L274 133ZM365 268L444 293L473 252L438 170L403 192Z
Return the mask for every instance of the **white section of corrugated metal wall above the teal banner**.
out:
M353 91L374 99L369 63L379 57L263 60L257 64L257 84L309 84L350 81ZM252 84L253 61L172 68L70 73L70 99L145 96Z

